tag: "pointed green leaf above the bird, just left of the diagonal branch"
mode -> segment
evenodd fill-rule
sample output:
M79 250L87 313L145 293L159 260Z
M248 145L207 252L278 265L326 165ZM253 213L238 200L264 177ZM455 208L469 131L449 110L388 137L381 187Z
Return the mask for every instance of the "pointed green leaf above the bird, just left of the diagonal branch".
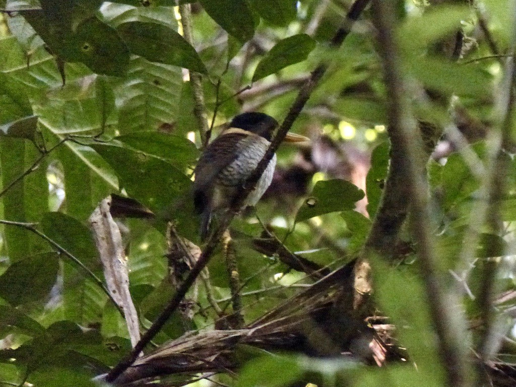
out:
M287 66L302 62L315 49L315 40L307 34L294 35L280 40L258 63L252 82L277 73Z

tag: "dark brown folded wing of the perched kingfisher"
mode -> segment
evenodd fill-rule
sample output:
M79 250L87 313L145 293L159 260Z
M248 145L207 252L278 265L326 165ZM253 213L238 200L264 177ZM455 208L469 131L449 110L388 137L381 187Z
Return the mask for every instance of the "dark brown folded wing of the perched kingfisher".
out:
M239 143L248 135L228 133L217 137L205 149L194 170L193 203L198 213L205 212L213 195L213 187L220 171L238 157Z

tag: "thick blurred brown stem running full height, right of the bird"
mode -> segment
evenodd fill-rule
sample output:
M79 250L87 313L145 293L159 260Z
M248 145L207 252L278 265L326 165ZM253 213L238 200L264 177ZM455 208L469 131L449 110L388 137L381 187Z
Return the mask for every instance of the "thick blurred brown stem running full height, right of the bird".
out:
M394 37L394 1L373 0L373 20L378 31L379 53L383 62L386 91L390 96L388 128L392 143L398 144L399 168L404 171L405 184L411 198L411 228L417 240L418 267L426 287L431 318L439 337L440 354L450 386L469 385L469 372L464 332L458 308L450 308L450 300L443 292L444 284L437 271L437 256L431 232L428 203L428 182L421 173L426 163L423 139L411 116L410 100L404 74L401 71L399 50ZM391 168L393 166L391 165ZM456 302L456 300L451 300ZM456 306L456 305L455 305ZM457 328L456 328L457 327Z

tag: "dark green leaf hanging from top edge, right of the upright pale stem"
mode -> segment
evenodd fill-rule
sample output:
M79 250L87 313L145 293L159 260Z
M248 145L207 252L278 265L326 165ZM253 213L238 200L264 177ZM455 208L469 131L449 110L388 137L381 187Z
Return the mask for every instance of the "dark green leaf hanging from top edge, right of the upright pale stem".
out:
M208 15L241 42L254 36L254 20L245 0L201 0Z

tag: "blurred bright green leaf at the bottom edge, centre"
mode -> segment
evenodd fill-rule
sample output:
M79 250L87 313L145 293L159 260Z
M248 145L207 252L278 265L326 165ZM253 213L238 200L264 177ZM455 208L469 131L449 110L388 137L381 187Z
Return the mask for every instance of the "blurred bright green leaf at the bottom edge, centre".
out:
M292 356L268 355L246 363L239 372L236 387L282 387L291 385L303 374Z

